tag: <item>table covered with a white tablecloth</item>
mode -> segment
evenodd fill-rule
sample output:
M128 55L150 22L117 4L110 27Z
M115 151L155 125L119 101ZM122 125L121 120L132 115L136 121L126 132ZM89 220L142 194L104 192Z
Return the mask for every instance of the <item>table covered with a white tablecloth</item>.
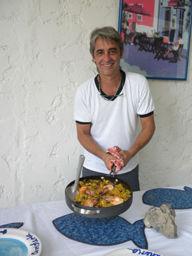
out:
M192 188L192 184L188 186ZM184 186L175 188L183 190ZM134 192L131 207L120 214L122 218L130 223L143 219L145 212L150 208L149 205L142 202L143 193L145 191ZM168 239L157 233L154 228L145 228L148 250L161 253L163 256L191 255L192 209L175 210L175 212L175 223L179 237ZM1 208L0 225L23 222L24 225L20 229L33 232L42 241L42 256L102 256L120 248L137 248L132 241L114 246L93 246L68 239L56 230L52 225L52 220L70 213L72 211L65 204L65 200Z

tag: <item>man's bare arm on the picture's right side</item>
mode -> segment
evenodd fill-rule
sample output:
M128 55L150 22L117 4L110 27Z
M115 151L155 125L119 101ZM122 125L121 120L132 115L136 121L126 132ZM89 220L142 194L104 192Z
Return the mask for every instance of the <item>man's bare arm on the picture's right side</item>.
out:
M148 141L152 138L156 125L154 122L154 115L141 117L141 132L138 134L136 141L129 150L121 150L119 153L124 157L124 166L129 162L129 160L141 150L141 148L147 145Z

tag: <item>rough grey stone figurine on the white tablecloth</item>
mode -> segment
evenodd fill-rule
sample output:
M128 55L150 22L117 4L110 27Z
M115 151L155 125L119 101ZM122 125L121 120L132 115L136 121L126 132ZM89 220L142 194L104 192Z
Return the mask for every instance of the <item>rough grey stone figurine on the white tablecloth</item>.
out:
M177 225L175 225L175 210L170 204L162 204L159 209L150 207L143 220L145 227L153 227L168 238L176 238Z

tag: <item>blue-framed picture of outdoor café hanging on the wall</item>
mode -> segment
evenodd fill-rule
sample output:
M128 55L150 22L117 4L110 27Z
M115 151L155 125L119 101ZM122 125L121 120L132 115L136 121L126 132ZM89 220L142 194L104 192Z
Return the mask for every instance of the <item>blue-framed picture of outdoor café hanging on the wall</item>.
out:
M191 0L120 0L122 69L148 79L186 80L191 13Z

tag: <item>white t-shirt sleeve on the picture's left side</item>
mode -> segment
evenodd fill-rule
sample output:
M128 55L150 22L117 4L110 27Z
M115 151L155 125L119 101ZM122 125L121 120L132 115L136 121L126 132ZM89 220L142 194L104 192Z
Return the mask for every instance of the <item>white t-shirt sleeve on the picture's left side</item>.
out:
M74 102L74 120L79 123L91 123L90 108L83 86L77 89Z

